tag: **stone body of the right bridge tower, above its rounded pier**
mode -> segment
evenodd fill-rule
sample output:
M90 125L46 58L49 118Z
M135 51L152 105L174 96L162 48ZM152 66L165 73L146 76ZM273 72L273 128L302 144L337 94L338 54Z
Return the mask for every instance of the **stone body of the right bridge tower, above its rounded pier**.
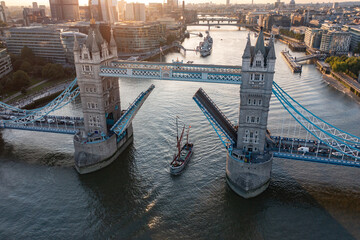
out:
M237 149L264 153L269 103L275 68L273 43L265 48L260 33L255 48L248 39L243 55ZM246 53L248 51L248 53ZM249 54L250 53L250 54Z

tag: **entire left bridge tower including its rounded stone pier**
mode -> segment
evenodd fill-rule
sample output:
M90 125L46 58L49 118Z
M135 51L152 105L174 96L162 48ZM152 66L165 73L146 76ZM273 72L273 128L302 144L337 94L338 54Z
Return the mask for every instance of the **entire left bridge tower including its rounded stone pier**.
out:
M101 77L100 67L114 60L117 46L112 31L108 43L92 22L83 46L75 38L74 61L85 125L74 137L75 167L81 174L110 164L132 139L132 126L121 138L109 131L121 116L119 82L118 78Z

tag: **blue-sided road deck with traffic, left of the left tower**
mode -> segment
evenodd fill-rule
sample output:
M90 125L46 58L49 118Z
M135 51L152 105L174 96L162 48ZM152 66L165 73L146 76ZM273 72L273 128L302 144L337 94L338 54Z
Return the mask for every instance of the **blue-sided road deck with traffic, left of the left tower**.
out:
M81 117L47 115L36 121L17 122L16 119L23 116L22 114L8 115L0 112L0 128L72 135L84 129L84 119Z

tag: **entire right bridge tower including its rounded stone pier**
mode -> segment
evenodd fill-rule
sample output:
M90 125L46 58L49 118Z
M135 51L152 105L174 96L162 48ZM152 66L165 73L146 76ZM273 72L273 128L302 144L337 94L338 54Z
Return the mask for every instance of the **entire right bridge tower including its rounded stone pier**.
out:
M242 59L237 143L227 157L226 175L236 193L250 198L263 192L271 177L272 155L266 151L266 135L276 60L273 39L266 47L261 29L251 46L249 35Z

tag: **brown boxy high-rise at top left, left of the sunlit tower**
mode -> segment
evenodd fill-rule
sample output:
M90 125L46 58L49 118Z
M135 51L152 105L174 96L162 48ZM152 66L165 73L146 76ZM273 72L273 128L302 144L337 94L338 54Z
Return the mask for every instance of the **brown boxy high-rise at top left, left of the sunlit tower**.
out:
M78 0L49 0L51 18L55 21L79 21Z

